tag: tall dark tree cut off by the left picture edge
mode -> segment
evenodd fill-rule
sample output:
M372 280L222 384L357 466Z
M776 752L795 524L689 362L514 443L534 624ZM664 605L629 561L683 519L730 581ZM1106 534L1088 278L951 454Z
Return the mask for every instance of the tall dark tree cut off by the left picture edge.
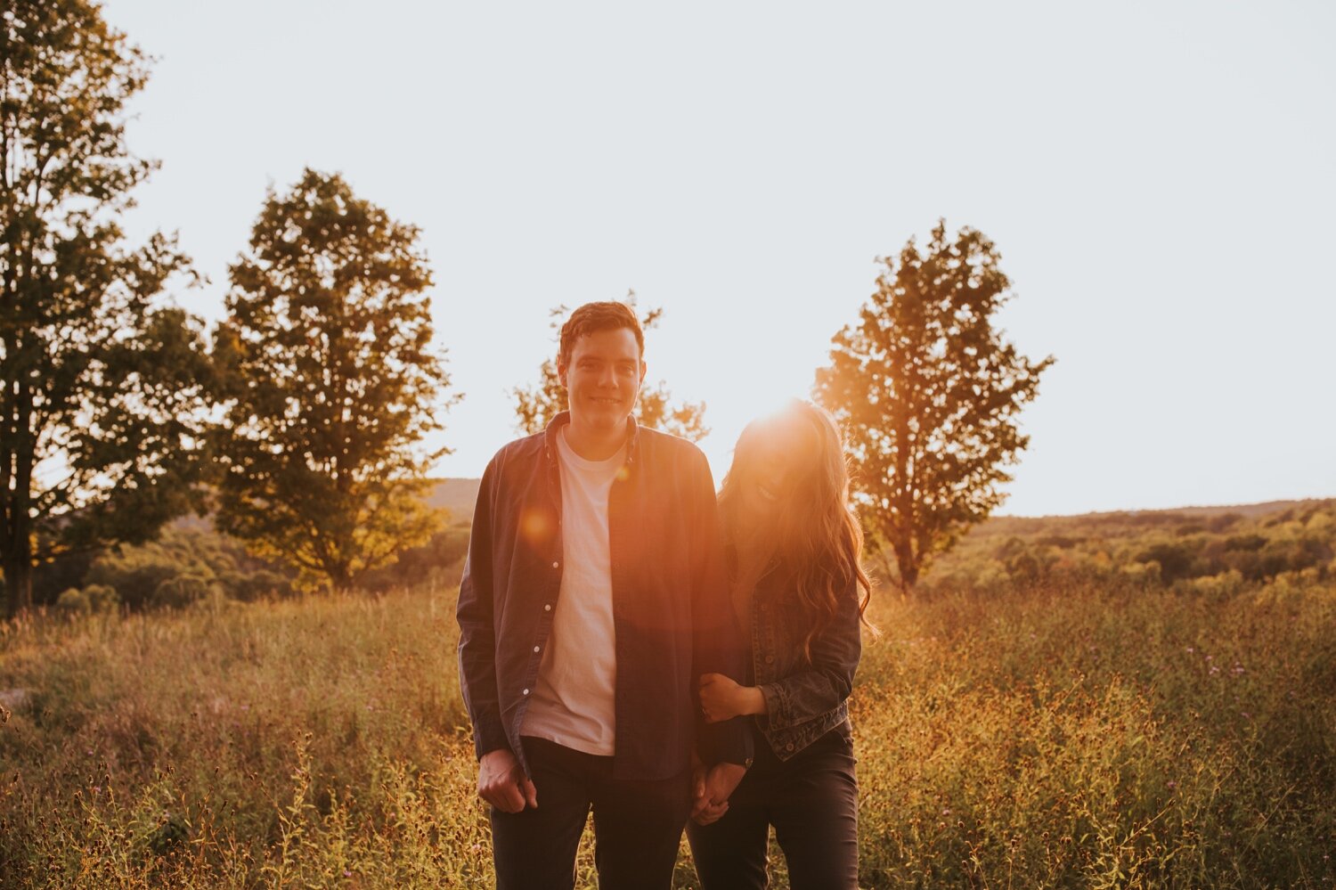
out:
M124 140L139 48L87 0L0 8L0 571L7 612L60 553L143 541L198 506L210 369L159 297L175 243L123 242L156 167Z

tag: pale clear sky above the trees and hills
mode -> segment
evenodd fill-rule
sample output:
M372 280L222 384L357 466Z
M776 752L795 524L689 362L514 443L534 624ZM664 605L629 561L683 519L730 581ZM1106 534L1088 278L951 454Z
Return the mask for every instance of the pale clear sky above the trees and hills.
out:
M716 481L807 396L875 259L938 218L998 246L1054 355L999 512L1336 496L1336 4L107 0L154 55L132 238L223 314L303 167L421 227L476 477L548 310L661 306L648 380L704 401Z

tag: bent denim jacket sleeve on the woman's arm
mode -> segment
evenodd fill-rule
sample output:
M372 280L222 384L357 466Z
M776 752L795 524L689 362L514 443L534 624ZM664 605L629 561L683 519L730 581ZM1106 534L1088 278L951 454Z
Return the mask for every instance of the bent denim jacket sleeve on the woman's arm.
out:
M854 688L862 653L858 581L852 580L839 597L831 623L812 639L811 664L760 687L766 696L762 720L772 730L783 730L838 708Z

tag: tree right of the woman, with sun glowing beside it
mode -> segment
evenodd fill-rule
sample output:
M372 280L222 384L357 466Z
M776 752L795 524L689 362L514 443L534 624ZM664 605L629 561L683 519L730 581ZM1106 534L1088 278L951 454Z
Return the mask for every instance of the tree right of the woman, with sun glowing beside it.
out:
M983 520L1029 444L1017 414L1053 357L1031 362L994 326L1011 297L993 242L939 220L884 265L858 323L834 338L816 398L844 430L868 543L907 591L934 553Z

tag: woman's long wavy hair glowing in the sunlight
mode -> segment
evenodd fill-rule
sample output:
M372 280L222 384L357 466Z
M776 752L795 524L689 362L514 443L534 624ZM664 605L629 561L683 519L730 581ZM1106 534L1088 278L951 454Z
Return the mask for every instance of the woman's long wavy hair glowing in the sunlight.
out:
M741 517L743 485L755 478L763 450L782 448L788 464L788 485L780 502L762 520L763 528L741 528L755 517ZM850 509L848 465L839 428L823 409L791 400L774 414L754 420L733 449L733 462L719 493L725 532L735 545L760 543L767 559L778 559L804 615L810 619L803 655L835 617L839 597L855 585L858 613L871 600L872 584L863 571L863 529ZM860 589L860 593L858 592ZM871 627L868 624L868 627Z

